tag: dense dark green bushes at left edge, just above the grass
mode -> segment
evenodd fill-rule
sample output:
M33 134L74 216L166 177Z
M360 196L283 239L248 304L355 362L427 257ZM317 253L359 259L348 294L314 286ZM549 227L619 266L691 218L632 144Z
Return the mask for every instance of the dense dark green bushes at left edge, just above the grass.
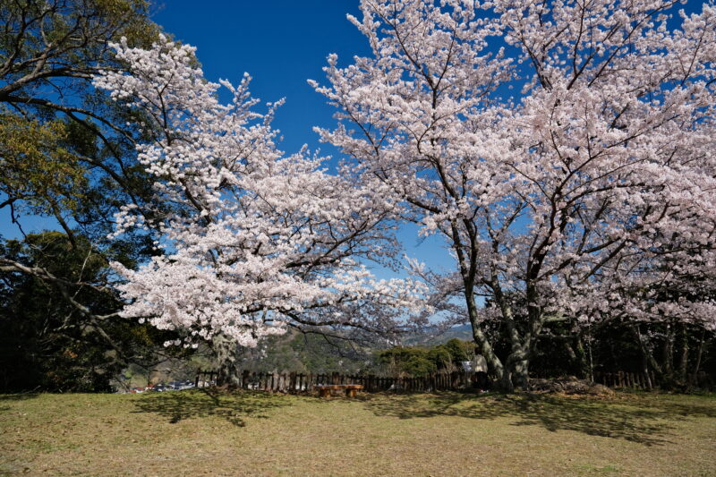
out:
M0 272L3 392L107 391L127 362L151 362L158 344L175 337L114 315L121 303L95 285L105 281L107 263L83 236L72 246L65 234L31 234L25 243L0 244L0 251L61 280L48 284L29 274ZM107 319L88 318L68 301L80 295L88 311Z

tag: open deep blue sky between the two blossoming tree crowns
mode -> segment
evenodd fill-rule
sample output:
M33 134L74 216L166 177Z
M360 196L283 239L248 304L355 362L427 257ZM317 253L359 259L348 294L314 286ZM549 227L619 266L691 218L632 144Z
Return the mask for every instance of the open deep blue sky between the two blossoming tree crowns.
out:
M211 81L253 77L251 91L262 101L286 98L275 126L284 135L282 149L291 153L307 143L319 148L314 125L335 124L334 109L308 86L320 81L330 53L345 58L368 53L367 42L345 19L359 15L357 0L266 2L168 0L153 19L183 43L198 48L204 73ZM333 154L327 145L321 150Z

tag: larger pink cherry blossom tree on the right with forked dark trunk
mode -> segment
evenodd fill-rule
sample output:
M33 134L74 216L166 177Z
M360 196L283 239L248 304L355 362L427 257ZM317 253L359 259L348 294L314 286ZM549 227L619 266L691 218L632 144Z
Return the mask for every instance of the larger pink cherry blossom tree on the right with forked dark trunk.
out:
M322 141L444 237L436 293L505 388L550 321L714 327L716 9L677 4L362 0L372 54L311 81L339 110Z

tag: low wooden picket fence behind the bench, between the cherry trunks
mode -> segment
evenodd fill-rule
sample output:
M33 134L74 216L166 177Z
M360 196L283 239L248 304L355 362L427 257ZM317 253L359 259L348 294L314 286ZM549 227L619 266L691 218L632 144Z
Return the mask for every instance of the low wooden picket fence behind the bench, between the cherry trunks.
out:
M471 386L473 373L464 371L439 372L422 378L390 378L376 375L303 374L295 372L270 373L243 371L239 387L260 391L302 393L311 392L314 386L322 384L361 384L369 393L379 391L429 392L464 389ZM214 382L216 371L200 371L196 386Z

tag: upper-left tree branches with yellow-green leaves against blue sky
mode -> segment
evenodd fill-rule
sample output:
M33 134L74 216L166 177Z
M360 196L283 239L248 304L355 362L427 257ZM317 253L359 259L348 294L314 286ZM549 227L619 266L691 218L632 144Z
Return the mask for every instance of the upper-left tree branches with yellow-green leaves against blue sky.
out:
M101 245L117 208L150 198L136 112L91 84L121 68L111 41L149 47L160 31L143 0L0 2L0 208L55 217ZM72 223L73 222L73 223Z

